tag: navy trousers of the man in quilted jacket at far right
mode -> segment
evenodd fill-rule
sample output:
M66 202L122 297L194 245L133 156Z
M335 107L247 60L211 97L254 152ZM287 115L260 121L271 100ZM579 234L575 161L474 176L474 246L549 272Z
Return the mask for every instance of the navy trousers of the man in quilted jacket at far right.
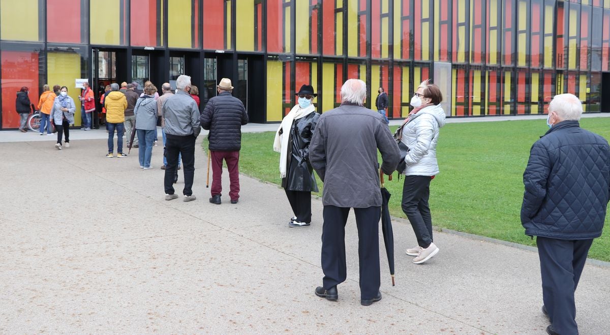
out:
M536 237L542 275L542 301L555 331L578 334L574 292L593 239L558 240Z

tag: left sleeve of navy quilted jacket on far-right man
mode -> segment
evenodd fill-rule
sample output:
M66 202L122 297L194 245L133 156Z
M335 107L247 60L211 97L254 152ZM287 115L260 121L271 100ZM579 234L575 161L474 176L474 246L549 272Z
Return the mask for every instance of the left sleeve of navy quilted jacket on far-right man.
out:
M550 157L540 141L534 143L529 151L528 165L523 172L523 204L521 206L521 223L526 223L539 211L547 196L547 179L550 174Z

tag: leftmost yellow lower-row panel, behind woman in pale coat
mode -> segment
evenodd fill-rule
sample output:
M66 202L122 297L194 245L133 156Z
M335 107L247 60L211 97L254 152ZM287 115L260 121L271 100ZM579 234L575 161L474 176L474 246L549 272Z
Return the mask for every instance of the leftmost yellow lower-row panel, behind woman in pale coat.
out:
M81 104L78 97L81 90L74 87L74 79L81 77L81 56L67 52L49 52L47 54L47 82L49 85L68 87L68 95L76 102L74 126L81 125Z

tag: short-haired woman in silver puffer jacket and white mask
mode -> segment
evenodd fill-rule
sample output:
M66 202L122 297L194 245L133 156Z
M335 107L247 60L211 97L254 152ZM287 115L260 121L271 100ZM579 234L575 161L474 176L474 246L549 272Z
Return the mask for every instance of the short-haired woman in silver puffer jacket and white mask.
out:
M406 168L403 171L402 207L417 237L417 247L407 249L406 253L415 256L415 264L422 264L439 252L432 242L428 199L430 182L440 172L436 143L439 141L439 129L445 125L445 111L440 106L442 100L437 85L430 84L429 80L422 82L411 99L411 106L415 108L401 129L401 142L409 147L409 153L404 157Z

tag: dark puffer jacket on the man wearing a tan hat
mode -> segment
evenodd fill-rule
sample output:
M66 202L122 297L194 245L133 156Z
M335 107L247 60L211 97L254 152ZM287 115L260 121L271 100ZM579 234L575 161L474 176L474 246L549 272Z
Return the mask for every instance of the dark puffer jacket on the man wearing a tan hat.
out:
M248 123L248 113L242 101L222 92L207 102L201 113L201 126L209 130L207 139L212 151L239 151L242 148L242 125Z

